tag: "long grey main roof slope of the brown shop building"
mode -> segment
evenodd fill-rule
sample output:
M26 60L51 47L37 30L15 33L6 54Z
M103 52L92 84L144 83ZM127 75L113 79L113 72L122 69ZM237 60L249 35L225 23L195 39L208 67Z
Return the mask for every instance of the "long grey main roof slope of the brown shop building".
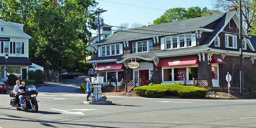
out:
M189 32L195 29L203 29L205 25L212 23L213 21L224 16L225 14L226 13L219 13L215 15L192 18L188 20L180 20L176 22L157 24L157 25L146 26L146 27L141 27L137 29L128 29L125 31L118 31L118 32L115 32L113 35L103 39L102 41L97 42L97 44L101 44L105 42L115 43L118 41L121 42L128 39L139 39L142 37L150 38L157 35L163 35L163 34L168 35L176 32ZM142 29L142 30L138 30L138 29ZM143 31L143 30L152 30L155 32ZM159 32L156 32L156 31L159 31Z

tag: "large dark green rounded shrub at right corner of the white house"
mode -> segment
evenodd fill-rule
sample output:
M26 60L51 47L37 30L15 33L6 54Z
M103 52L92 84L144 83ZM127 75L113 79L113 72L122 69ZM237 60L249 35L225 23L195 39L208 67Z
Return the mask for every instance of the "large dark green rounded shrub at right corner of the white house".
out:
M29 79L35 80L35 84L40 84L44 82L45 74L42 70L35 70L28 72Z

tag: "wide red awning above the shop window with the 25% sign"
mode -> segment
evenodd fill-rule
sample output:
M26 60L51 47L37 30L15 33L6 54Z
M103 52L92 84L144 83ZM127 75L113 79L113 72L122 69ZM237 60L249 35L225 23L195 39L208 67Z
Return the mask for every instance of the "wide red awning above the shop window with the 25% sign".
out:
M198 64L198 58L177 58L177 59L170 59L170 60L160 60L158 62L157 67L162 66L181 66L181 65L194 65Z

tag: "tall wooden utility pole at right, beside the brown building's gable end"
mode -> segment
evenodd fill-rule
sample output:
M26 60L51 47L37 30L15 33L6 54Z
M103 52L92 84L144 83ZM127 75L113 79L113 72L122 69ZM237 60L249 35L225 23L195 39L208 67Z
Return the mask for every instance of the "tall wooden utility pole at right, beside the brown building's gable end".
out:
M239 0L239 51L240 51L240 94L244 93L243 44L242 44L242 7ZM246 45L246 44L245 44Z

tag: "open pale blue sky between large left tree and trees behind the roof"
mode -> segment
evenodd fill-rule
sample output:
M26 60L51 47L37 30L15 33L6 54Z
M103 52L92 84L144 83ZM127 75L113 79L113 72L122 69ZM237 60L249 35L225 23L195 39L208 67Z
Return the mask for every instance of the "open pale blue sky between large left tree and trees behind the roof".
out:
M153 20L164 14L164 10L176 7L189 8L193 6L207 7L213 9L211 0L96 0L98 7L108 10L101 17L104 23L113 26L120 26L121 23L128 22L141 23L144 25L152 24ZM114 3L111 3L114 2ZM117 3L129 4L134 6L122 5ZM137 6L143 6L148 9ZM157 10L161 9L161 10ZM129 27L130 27L129 26ZM92 31L95 33L95 31ZM94 35L93 35L94 36Z

